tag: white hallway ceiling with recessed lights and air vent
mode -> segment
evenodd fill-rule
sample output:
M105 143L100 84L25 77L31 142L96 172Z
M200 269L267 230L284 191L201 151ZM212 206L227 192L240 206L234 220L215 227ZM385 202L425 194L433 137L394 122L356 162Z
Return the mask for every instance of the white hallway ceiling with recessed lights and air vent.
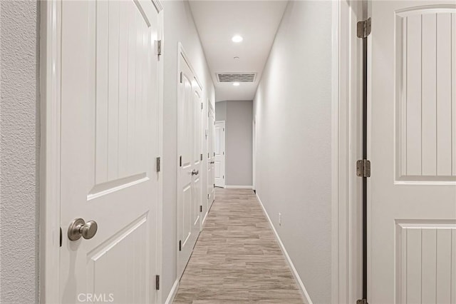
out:
M287 1L190 0L216 101L252 100ZM242 42L232 41L234 35ZM239 59L234 59L238 56ZM217 73L257 73L253 83L220 83Z

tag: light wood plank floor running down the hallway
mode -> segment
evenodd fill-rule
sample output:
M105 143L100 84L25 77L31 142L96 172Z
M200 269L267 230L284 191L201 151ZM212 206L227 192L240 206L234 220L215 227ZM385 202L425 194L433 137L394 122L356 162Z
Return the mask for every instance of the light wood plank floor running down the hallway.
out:
M303 303L252 190L217 188L174 303Z

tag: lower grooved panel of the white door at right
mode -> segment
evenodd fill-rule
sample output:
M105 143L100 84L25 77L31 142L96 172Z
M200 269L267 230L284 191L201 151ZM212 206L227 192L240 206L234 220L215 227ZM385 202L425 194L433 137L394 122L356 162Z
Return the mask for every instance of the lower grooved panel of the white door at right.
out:
M401 221L398 245L398 303L455 303L455 223Z

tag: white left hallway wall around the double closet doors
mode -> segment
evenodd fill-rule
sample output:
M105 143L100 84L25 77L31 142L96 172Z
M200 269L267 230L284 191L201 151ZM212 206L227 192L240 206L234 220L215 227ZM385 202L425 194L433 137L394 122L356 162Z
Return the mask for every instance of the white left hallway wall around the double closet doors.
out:
M165 88L163 100L163 265L162 297L166 299L176 280L177 238L176 238L176 191L177 191L177 43L181 42L192 61L197 77L203 86L204 126L207 126L207 99L215 103L214 85L204 52L195 28L190 6L187 1L162 1L165 19L165 41L163 56L165 59ZM205 141L205 138L204 138ZM204 142L203 156L207 156ZM206 161L202 172L207 172ZM207 176L202 175L203 185ZM203 187L203 198L207 198L207 187ZM202 204L203 208L206 204ZM205 210L203 210L203 214Z

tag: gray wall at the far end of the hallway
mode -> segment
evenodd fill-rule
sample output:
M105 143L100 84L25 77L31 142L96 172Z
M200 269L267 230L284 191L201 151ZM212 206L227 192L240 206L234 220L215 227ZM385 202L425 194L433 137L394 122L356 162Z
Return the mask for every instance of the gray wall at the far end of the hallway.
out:
M225 121L227 186L252 186L253 101L215 103L216 121Z

